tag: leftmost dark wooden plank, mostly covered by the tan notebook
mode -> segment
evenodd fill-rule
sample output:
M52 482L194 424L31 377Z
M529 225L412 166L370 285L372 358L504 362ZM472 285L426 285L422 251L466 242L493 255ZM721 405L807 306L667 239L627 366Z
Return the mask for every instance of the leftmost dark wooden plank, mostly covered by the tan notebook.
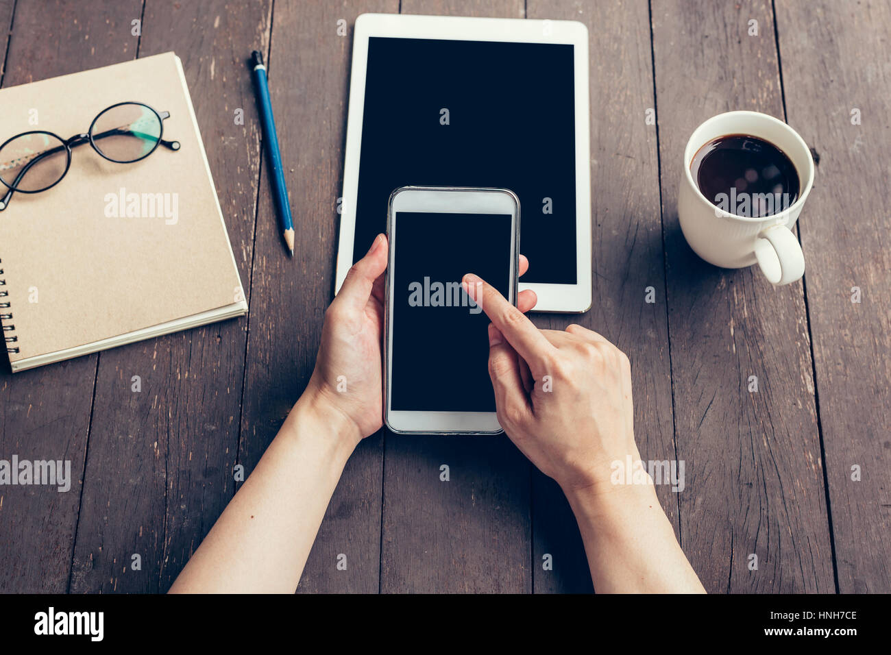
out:
M19 0L4 86L134 57L130 20L141 8L140 0L129 0L100 15L65 2ZM0 7L0 20L2 14ZM0 25L6 29L9 24L7 14ZM4 364L0 373L0 458L17 454L28 460L69 460L72 478L65 493L39 486L0 489L2 592L63 593L68 588L97 358L79 357L14 378Z

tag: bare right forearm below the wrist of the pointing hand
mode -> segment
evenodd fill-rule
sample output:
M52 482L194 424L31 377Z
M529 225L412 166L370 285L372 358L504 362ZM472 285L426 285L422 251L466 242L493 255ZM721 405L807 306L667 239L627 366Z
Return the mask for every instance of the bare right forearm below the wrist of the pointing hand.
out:
M598 593L705 592L651 484L588 487L567 498Z

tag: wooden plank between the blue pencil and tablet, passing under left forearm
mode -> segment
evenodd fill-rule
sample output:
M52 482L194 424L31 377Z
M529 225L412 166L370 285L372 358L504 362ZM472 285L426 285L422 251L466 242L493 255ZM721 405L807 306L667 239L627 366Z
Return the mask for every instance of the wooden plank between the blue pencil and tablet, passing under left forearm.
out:
M388 0L275 4L269 85L297 246L294 258L287 257L264 160L239 454L246 472L306 387L333 294L353 23L360 13L396 12L397 6ZM346 21L344 36L339 20ZM298 591L378 591L381 453L380 437L372 437L350 458ZM341 553L346 570L337 569Z

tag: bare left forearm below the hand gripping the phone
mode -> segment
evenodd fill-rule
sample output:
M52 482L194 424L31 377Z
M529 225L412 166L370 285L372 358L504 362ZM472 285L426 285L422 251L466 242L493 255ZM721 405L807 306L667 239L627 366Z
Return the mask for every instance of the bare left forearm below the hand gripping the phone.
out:
M170 592L293 593L355 446L339 416L301 398Z

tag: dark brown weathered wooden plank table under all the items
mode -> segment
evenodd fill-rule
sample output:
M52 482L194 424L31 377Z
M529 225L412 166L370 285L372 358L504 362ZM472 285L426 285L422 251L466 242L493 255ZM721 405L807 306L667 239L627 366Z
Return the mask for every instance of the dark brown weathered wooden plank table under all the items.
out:
M166 591L232 498L233 469L257 463L331 300L353 22L400 11L587 24L593 309L535 321L582 323L630 356L637 441L644 460L685 463L683 492L658 492L707 590L891 591L891 7L866 0L0 0L3 86L179 54L250 304L237 321L5 367L0 459L69 459L75 481L0 487L0 591ZM261 163L255 47L290 168L294 260ZM683 145L733 109L787 119L813 146L804 282L773 289L683 240ZM591 588L560 490L507 438L379 434L347 464L298 591Z

